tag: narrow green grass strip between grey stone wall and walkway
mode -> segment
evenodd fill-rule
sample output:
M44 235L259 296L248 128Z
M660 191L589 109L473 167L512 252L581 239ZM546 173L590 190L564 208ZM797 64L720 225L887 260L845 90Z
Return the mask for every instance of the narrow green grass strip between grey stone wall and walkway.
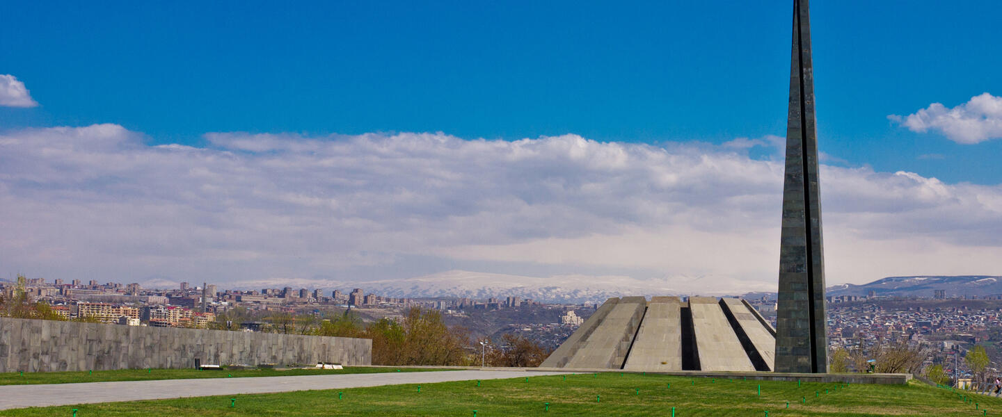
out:
M148 381L153 379L190 379L190 378L233 378L252 376L298 376L298 375L337 375L337 374L368 374L377 372L420 372L436 371L437 369L419 368L370 368L346 366L345 369L241 369L199 371L197 369L126 369L117 371L94 372L20 372L0 373L0 385L23 384L66 384L74 382L105 382L105 381Z

